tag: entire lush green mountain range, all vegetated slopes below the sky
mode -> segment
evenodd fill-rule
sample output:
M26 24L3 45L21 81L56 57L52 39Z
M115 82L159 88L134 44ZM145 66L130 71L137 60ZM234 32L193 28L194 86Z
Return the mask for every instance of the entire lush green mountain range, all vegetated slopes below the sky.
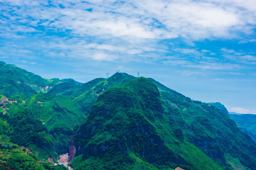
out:
M0 161L62 170L49 161L68 153L72 143L74 170L256 167L255 142L221 103L192 101L125 73L81 84L4 62L0 68Z

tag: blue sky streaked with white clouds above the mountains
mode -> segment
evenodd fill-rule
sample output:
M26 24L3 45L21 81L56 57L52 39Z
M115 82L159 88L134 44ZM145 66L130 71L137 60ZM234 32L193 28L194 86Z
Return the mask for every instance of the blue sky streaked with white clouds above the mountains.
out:
M139 72L256 114L256 0L0 0L0 60L82 83Z

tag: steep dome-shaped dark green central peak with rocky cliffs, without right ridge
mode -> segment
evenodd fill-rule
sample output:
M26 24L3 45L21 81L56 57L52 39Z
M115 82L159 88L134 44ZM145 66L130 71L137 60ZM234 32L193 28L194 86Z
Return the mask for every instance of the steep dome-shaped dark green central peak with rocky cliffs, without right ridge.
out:
M222 170L169 123L156 86L137 78L99 96L75 130L74 170Z

